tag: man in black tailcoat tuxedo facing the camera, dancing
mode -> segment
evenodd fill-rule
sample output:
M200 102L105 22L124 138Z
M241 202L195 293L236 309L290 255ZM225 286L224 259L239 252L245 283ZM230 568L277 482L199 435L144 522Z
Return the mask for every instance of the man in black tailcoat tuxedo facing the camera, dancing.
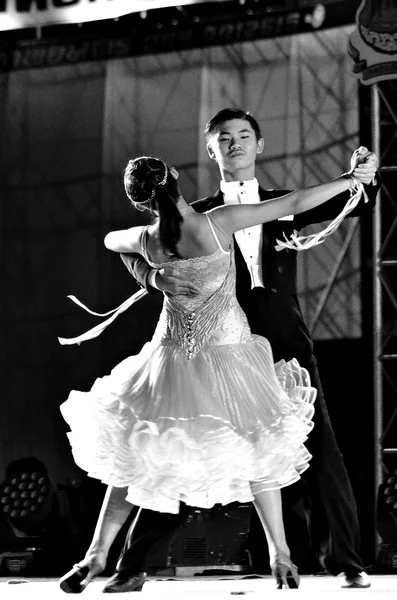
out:
M265 201L289 191L264 190L259 186L255 178L255 161L263 151L264 140L257 121L249 113L223 109L209 121L205 133L209 156L217 162L222 179L220 190L214 196L192 204L197 212L223 203ZM368 177L365 186L367 202L361 200L349 217L371 211L379 187L375 183L376 156L366 151L360 161L360 168ZM310 498L310 539L320 564L333 575L344 573L343 587L364 588L370 586L370 581L358 555L360 536L356 504L325 404L313 342L297 299L297 252L275 250L276 240L283 240L284 234L290 238L294 230L335 218L348 199L348 193L341 194L291 220L237 232L236 286L238 300L253 333L270 341L275 362L295 357L309 371L312 385L317 389L315 426L306 444L313 458L302 475L303 486ZM171 294L195 293L192 283L173 276L172 267L155 271L142 257L123 255L122 259L149 293L155 293L155 288ZM191 510L184 504L177 515L142 510L127 535L116 572L103 591L141 590L145 580L145 558L150 548L181 524Z

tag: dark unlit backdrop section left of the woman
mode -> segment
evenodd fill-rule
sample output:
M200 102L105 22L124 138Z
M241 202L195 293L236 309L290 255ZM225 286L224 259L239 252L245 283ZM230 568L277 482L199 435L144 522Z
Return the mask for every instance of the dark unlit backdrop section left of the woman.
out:
M149 299L93 343L62 347L57 340L98 322L68 294L101 311L137 289L103 246L112 225L129 225L132 212L108 196L104 204L105 83L98 65L84 77L60 69L2 81L1 477L10 461L31 455L57 482L81 477L59 405L151 334ZM118 183L115 196L121 174Z

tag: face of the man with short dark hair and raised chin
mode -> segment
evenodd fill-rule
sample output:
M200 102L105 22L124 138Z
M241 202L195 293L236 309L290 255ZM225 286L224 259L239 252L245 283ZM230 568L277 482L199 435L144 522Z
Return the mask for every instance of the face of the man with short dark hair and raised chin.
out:
M254 177L256 156L263 150L251 124L245 119L222 123L211 137L207 150L224 174L240 173Z

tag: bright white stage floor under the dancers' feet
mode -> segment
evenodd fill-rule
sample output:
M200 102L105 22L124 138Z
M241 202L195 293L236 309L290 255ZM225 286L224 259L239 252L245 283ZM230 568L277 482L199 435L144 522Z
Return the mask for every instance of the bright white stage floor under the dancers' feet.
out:
M106 578L98 578L92 582L83 592L87 600L93 598L104 598L102 587ZM19 583L17 583L19 582ZM397 575L372 575L372 585L368 589L355 590L343 589L341 577L304 575L298 590L286 590L305 598L316 599L324 594L326 599L340 598L340 595L348 594L357 598L365 596L368 600L373 598L397 598ZM213 600L215 598L231 598L232 596L248 596L252 600L261 598L277 598L284 590L276 590L275 582L270 576L250 578L237 577L190 577L178 579L159 579L149 577L145 583L142 594L143 599L150 600L182 600L192 597L192 600ZM131 597L130 594L116 594L124 598ZM24 598L26 600L39 598L40 600L66 598L67 595L58 587L58 580L53 578L0 578L1 600L12 600L13 598ZM70 597L70 595L69 595ZM142 600L143 600L142 599Z

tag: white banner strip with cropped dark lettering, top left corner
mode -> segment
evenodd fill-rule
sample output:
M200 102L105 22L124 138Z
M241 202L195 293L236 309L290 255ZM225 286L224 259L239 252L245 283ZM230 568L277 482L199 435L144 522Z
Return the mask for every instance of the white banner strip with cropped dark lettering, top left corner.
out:
M211 0L0 0L0 31L116 19L155 8ZM212 0L218 2L219 0Z

